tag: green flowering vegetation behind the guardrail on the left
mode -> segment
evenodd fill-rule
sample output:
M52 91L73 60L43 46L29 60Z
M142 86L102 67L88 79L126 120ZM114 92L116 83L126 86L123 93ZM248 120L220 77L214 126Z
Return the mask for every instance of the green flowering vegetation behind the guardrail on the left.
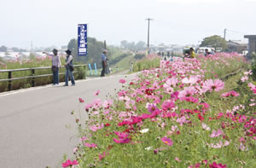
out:
M33 68L33 67L51 67L51 58L50 57L37 57L33 56L30 60L22 60L16 58L12 61L2 61L0 62L0 70L4 69L21 69L21 68ZM61 64L65 64L65 56L61 56ZM79 64L76 62L74 64ZM87 68L87 67L86 67ZM86 68L84 67L75 67L74 78L81 79L85 78L85 71ZM65 72L65 68L62 67L60 69L60 73ZM42 69L36 70L35 75L42 75L42 74L52 74L51 69ZM8 78L8 72L0 72L0 79ZM21 72L12 72L12 78L19 78L19 77L26 77L31 76L32 71L21 71ZM65 75L60 75L60 82L63 82ZM45 84L52 84L52 77L42 77L42 78L35 78L35 86L45 85ZM32 78L20 79L12 81L12 90L19 90L20 88L29 88L32 87ZM0 92L8 90L8 82L0 82Z

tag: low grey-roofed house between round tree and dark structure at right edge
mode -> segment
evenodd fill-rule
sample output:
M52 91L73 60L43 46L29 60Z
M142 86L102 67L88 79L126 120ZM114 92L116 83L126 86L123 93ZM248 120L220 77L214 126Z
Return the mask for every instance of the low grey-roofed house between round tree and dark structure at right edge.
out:
M243 54L247 50L247 42L241 40L230 40L228 41L228 52L237 52Z

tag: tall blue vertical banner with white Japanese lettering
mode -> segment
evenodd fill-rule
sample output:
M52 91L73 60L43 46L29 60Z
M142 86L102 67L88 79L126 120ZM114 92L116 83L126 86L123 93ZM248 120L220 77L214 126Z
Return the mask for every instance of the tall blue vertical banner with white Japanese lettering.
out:
M78 55L87 55L87 24L78 27Z

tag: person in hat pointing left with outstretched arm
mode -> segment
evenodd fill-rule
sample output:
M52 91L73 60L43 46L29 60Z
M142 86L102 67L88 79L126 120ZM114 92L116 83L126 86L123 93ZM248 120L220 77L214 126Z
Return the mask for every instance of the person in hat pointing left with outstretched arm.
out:
M54 55L49 55L46 52L43 52L43 54L48 55L52 58L51 71L53 74L53 85L57 86L59 85L59 69L61 68L61 59L60 59L60 55L58 55L57 49L53 49L52 52L54 53Z

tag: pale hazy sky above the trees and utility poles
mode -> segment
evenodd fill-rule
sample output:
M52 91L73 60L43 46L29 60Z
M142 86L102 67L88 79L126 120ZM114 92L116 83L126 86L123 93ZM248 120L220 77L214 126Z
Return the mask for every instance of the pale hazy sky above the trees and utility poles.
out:
M67 45L78 24L107 44L199 44L219 35L242 40L256 34L256 0L0 0L0 46L30 49Z

